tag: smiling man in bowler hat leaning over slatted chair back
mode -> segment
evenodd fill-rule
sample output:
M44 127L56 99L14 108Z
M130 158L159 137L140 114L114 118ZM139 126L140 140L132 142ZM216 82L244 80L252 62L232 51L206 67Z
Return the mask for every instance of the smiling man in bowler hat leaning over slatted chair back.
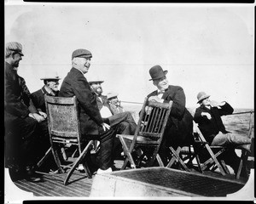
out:
M193 116L186 109L186 97L183 88L169 85L166 78L168 71L163 71L160 65L154 65L150 68L149 74L154 86L157 88L151 94L148 94L148 100L160 103L173 101L169 120L166 124L166 131L160 146L160 157L166 166L168 157L168 147L172 146L174 150L178 146L191 144L193 138Z

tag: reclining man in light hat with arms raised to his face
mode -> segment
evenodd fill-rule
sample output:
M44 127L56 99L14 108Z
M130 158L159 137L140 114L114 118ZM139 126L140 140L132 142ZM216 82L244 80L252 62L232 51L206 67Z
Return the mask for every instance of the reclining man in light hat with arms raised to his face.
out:
M240 146L250 151L251 139L247 135L230 133L224 127L221 116L230 115L234 109L227 102L217 103L209 99L210 95L205 92L197 94L198 104L195 110L194 120L198 123L201 133L212 146L228 146L221 156L226 164L237 172L240 158L236 155L235 147ZM247 176L245 169L241 170L241 177Z

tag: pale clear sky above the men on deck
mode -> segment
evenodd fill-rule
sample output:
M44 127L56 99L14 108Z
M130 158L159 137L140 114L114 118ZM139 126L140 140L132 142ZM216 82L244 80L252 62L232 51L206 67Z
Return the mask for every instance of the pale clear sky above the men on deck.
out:
M20 42L18 73L31 92L41 77L71 69L77 48L90 50L84 77L100 79L103 94L143 103L156 88L149 69L167 70L186 106L196 95L254 109L254 4L249 3L5 3L5 42Z

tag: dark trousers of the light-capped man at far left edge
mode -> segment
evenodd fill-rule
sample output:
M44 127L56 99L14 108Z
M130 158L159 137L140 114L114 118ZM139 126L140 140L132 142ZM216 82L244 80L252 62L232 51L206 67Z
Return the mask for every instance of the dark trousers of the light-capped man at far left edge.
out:
M28 116L5 121L4 140L6 158L15 159L19 166L33 166L49 148L47 122L38 123Z

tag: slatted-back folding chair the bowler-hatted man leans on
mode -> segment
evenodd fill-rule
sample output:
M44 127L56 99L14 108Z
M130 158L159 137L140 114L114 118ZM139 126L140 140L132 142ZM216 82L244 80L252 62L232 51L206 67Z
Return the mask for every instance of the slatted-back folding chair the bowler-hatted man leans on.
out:
M126 156L121 167L122 170L125 169L128 161L131 168L142 167L143 162L144 167L152 167L155 159L157 159L160 167L164 166L158 151L171 109L172 101L158 103L148 101L147 97L144 99L135 134L117 134ZM140 156L136 156L138 150L142 150Z

